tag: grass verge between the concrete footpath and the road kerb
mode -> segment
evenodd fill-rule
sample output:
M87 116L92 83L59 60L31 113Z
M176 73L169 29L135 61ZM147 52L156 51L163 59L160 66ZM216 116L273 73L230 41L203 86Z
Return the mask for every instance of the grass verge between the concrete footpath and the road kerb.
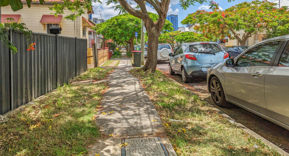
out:
M280 155L162 72L136 69L131 73L141 80L178 155Z

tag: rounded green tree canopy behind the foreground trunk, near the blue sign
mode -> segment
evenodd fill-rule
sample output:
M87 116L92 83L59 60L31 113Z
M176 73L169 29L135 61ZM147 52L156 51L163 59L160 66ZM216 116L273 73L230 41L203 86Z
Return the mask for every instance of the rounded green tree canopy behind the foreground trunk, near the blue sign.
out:
M157 14L148 14L154 20L158 18ZM168 20L166 20L163 28L173 30L172 24ZM105 38L113 39L117 44L129 44L129 49L134 50L135 32L140 33L141 31L141 19L128 13L121 14L97 24L93 29Z

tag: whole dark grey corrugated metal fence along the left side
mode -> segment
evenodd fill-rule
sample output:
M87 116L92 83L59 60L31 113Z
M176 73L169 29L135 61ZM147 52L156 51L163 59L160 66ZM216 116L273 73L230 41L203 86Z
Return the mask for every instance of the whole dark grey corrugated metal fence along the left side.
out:
M0 43L0 114L68 83L87 70L87 41L83 38L33 33L35 50L27 51L23 33L10 32L18 53ZM12 80L12 81L11 81Z

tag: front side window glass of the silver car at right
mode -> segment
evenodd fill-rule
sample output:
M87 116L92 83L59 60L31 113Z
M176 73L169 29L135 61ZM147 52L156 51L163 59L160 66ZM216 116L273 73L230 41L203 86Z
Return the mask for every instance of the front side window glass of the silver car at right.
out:
M256 46L238 59L237 66L269 66L280 41Z

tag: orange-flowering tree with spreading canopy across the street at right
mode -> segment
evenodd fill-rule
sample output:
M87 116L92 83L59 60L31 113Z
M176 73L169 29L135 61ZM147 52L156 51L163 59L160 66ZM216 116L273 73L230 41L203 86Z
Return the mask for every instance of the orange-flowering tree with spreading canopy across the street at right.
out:
M276 36L274 32L278 32L277 36L288 33L288 7L278 9L276 5L266 0L256 0L239 3L225 11L218 10L218 7L210 12L198 10L189 14L181 23L200 24L194 29L210 40L227 36L245 45L247 38L256 33L271 32L273 34L270 37Z

